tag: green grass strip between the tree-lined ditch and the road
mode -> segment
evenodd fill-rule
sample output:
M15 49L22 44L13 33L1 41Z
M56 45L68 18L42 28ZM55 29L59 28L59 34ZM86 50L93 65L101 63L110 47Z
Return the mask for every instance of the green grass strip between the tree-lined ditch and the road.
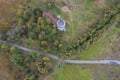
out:
M105 36L102 36L98 39L98 41L94 42L88 49L79 53L77 59L91 59L97 57L105 45L109 44L109 39L112 38L113 35L120 33L120 28L116 28L114 31L107 33Z

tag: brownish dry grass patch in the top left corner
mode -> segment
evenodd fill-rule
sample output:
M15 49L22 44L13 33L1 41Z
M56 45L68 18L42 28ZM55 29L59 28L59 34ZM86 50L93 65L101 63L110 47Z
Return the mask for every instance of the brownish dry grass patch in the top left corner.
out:
M14 8L18 7L21 0L0 0L0 33L9 29L14 21Z

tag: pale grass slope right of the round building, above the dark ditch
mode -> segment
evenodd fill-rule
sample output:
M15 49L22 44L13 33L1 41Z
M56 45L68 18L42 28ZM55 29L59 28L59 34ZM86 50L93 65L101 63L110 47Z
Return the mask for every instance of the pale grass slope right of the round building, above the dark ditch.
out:
M94 1L90 0L73 0L75 3L79 3L81 7L76 7L71 10L73 22L70 25L70 29L68 34L71 35L71 39L74 39L78 32L84 32L84 30L88 27L87 25L91 23L92 20L96 19L97 11L99 8L95 5Z

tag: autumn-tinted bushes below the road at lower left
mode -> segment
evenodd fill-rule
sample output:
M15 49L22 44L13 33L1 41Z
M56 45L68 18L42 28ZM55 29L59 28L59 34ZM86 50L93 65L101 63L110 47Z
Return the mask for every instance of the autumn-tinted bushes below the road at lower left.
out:
M26 73L24 80L37 80L40 75L45 75L53 70L51 59L42 56L39 53L26 53L16 47L1 44L0 48L3 52L9 53L10 61L20 71Z

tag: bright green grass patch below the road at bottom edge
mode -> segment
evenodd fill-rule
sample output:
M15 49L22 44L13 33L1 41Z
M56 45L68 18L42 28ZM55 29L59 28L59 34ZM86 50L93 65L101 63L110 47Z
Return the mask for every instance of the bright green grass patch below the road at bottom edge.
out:
M63 64L62 69L57 68L50 80L90 80L89 70L81 69L77 65Z

